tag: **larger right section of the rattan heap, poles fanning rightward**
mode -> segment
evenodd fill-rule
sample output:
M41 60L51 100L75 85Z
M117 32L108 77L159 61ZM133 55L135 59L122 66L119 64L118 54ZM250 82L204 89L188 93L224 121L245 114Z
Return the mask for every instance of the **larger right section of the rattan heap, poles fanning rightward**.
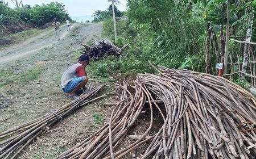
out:
M162 135L146 153L155 149L155 158L256 156L253 95L225 78L164 67L161 72L140 77L163 100L166 111Z

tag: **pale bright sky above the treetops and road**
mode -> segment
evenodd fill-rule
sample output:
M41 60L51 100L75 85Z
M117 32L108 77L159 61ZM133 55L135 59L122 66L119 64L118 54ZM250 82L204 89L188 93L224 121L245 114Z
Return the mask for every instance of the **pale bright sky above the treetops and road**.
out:
M5 2L9 2L10 7L14 7L15 0L13 2L11 0L3 0ZM17 0L20 2L20 0ZM121 4L116 5L117 9L120 11L126 10L126 0L118 0ZM32 7L35 5L45 5L51 2L59 2L65 5L65 9L67 10L69 16L85 16L85 15L93 15L93 12L96 10L106 10L109 5L112 3L108 2L108 0L22 0L23 5L31 5Z

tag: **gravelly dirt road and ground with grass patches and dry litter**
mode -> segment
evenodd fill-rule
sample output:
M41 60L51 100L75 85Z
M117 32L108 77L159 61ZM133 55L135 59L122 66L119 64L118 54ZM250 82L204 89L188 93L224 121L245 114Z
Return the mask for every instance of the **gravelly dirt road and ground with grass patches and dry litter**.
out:
M0 132L72 101L60 89L61 74L81 55L79 42L101 39L101 30L101 23L73 24L71 31L61 28L60 41L51 30L0 51ZM98 129L94 114L108 118L110 108L99 105L89 104L61 120L30 144L22 158L54 158L73 147Z

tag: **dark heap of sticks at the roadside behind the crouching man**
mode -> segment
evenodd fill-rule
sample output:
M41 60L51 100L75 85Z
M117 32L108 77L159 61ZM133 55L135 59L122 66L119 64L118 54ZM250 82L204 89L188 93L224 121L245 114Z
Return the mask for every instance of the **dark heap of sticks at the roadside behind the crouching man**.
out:
M85 44L80 45L84 46L85 49L82 54L86 54L90 59L99 60L107 56L119 57L121 55L122 49L115 46L109 39L104 40L92 40L93 45L90 47Z

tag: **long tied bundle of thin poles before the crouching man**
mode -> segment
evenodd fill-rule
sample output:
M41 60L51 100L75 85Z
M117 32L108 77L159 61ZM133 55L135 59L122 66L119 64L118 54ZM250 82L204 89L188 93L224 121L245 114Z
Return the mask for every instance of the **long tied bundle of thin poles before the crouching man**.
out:
M32 120L31 122L22 124L18 127L9 129L5 132L1 132L0 158L8 158L9 156L11 156L11 158L15 158L22 149L26 148L26 146L35 139L36 136L39 136L47 131L51 125L62 120L76 108L111 94L108 93L94 98L98 91L104 86L105 84L97 87L89 86L88 89L82 95L80 95L79 98L69 102L68 104L65 104L55 112Z

